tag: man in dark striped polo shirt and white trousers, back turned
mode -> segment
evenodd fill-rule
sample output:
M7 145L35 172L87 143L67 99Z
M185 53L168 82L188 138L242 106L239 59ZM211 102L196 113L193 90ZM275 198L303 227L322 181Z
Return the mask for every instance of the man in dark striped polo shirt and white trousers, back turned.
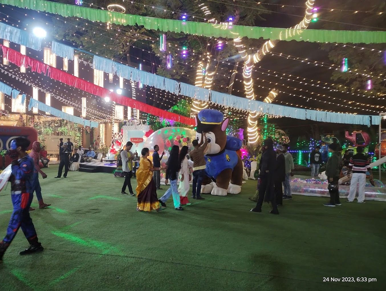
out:
M354 201L357 192L357 184L359 183L358 203L365 203L364 186L366 185L366 171L369 171L370 179L372 178L372 173L369 159L363 154L363 150L364 148L362 146L358 146L357 154L350 158L350 170L348 174L352 172L352 177L350 182L350 194L347 197L347 202Z

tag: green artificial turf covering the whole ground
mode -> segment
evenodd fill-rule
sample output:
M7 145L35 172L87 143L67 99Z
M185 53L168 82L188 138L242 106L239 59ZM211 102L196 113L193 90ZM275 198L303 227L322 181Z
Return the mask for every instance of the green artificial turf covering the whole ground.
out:
M20 256L22 231L0 265L0 290L384 290L386 203L295 196L280 215L249 210L256 181L241 194L191 200L176 211L136 211L123 178L69 172L40 179L51 209L31 212L44 252ZM132 179L135 189L136 180ZM164 186L164 188L166 188ZM165 190L159 191L158 196ZM0 192L0 235L12 204ZM5 195L5 196L2 196ZM323 282L323 277L340 282ZM342 282L342 277L377 282Z

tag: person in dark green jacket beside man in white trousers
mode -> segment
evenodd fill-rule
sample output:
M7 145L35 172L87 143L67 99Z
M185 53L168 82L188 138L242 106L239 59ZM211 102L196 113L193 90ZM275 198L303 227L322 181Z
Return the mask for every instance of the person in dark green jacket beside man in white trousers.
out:
M335 207L342 205L339 201L339 173L340 164L342 163L342 155L340 154L340 147L337 144L328 146L328 151L332 152L332 156L328 159L326 165L326 176L328 180L328 192L330 192L330 202L324 203L324 206Z

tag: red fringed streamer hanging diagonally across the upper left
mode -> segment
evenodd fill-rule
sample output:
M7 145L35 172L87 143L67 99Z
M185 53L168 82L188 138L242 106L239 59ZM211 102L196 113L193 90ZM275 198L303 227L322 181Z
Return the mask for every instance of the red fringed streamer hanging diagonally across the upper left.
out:
M75 77L69 73L56 69L52 66L46 65L41 61L30 58L29 56L25 56L24 54L15 51L14 49L8 48L6 46L0 45L3 50L4 57L10 61L11 63L17 66L24 66L25 68L31 68L31 71L37 72L39 74L44 74L49 76L50 78L57 80L59 82L65 83L71 87L78 88L85 92L88 92L93 95L97 95L99 97L110 97L110 100L116 102L118 104L129 106L135 108L137 110L152 114L154 116L158 116L165 119L170 119L173 121L178 121L181 123L195 125L195 121L192 118L182 116L176 113L168 112L166 110L159 109L154 106L150 106L146 103L134 100L132 98L118 95L114 92L110 92L109 90L99 87L93 83L90 83L81 78ZM47 73L48 71L48 73Z

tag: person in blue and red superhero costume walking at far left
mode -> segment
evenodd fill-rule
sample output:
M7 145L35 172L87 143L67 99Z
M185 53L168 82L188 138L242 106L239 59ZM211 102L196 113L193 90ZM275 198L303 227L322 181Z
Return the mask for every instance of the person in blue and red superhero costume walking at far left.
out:
M19 228L29 242L29 247L20 252L20 255L41 252L43 247L37 240L35 226L29 215L29 207L34 192L34 161L25 152L30 141L23 137L15 138L10 144L9 157L12 160L11 197L14 212L11 215L7 228L7 235L0 242L0 262Z

